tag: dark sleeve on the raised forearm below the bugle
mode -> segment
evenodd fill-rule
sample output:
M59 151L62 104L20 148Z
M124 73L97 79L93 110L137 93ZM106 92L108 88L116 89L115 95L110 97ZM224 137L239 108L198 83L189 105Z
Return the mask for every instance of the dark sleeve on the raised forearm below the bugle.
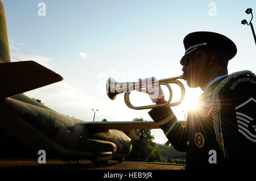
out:
M186 128L177 122L177 118L170 107L153 108L148 114L163 130L177 151L184 152L187 150Z

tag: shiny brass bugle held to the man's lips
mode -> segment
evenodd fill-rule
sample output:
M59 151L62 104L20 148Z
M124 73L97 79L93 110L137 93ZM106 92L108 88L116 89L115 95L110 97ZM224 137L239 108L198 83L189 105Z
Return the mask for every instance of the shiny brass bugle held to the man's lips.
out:
M143 85L146 84L146 83L142 83L142 82L115 82L114 79L110 77L110 78L108 78L108 80L106 82L106 92L107 92L109 98L112 100L114 100L118 94L125 92L125 104L126 104L126 106L128 106L129 108L131 108L133 110L145 110L145 109L151 109L151 108L155 108L155 107L177 106L181 102L183 102L183 99L185 98L185 87L184 87L183 83L181 83L177 79L184 79L184 75L180 75L179 77L172 77L172 78L158 80L158 85L159 86L160 85L167 86L167 88L170 92L170 98L164 104L154 104L154 105L149 105L149 106L138 106L138 107L133 106L131 104L130 98L129 98L130 92L132 90L142 89ZM147 82L147 84L151 84L151 85L154 85L154 83L155 83L154 81ZM171 89L171 86L169 85L169 83L175 83L181 89L181 98L179 101L177 101L175 103L171 103L172 89Z

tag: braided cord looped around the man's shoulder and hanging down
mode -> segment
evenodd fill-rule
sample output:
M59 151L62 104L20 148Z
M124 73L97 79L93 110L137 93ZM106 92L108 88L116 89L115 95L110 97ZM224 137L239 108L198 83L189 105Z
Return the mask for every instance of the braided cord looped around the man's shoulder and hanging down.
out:
M240 75L250 75L255 78L255 74L249 70L237 71L236 73L228 75L223 81L220 82L218 86L215 87L212 94L212 119L213 119L213 129L216 136L216 140L218 141L218 145L223 151L224 157L226 157L226 150L224 148L224 140L222 136L221 130L221 101L218 99L219 92L230 81L230 79L234 77L238 77Z

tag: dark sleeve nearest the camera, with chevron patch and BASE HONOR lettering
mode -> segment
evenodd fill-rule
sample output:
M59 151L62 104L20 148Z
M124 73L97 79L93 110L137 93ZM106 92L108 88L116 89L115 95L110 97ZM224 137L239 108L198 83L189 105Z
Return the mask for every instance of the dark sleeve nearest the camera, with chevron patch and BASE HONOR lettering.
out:
M233 78L220 91L221 127L229 157L255 154L256 80L243 75Z

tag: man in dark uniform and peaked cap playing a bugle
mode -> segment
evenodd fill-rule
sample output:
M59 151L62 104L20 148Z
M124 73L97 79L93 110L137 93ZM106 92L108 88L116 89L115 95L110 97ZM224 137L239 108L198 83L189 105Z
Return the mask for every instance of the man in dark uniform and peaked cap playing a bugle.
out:
M149 115L176 150L187 152L186 169L250 168L256 163L255 75L228 75L228 62L237 48L224 35L193 32L183 42L180 64L187 85L204 91L200 108L188 112L187 127L177 122L170 107L154 108ZM166 102L161 88L152 101Z

